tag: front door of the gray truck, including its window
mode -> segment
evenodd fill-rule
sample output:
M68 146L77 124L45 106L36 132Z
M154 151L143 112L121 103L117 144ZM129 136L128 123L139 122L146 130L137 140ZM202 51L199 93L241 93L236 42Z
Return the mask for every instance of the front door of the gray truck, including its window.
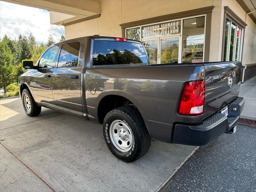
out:
M54 104L51 84L58 49L58 46L53 46L44 52L38 61L38 65L41 68L38 68L37 72L30 78L30 86L33 90L34 98L38 103Z

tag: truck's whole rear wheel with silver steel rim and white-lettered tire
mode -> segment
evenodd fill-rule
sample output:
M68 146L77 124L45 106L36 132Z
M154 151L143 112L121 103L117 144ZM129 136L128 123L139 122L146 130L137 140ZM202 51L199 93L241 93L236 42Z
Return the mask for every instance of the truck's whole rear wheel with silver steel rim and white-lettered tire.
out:
M104 118L103 134L109 150L124 162L141 158L150 147L150 136L140 114L131 107L120 107Z

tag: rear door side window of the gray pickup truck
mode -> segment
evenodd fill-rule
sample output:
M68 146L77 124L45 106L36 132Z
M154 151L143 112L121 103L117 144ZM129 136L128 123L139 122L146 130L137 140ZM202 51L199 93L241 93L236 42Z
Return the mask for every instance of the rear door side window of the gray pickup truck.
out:
M76 67L80 51L80 42L66 43L62 45L58 67Z

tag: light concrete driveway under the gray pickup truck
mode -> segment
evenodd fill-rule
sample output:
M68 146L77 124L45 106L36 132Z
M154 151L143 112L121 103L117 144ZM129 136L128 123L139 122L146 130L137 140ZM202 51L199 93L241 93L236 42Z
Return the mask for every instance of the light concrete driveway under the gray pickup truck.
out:
M0 100L0 191L157 191L195 147L152 142L124 163L108 150L102 125L42 108L23 112L20 98Z

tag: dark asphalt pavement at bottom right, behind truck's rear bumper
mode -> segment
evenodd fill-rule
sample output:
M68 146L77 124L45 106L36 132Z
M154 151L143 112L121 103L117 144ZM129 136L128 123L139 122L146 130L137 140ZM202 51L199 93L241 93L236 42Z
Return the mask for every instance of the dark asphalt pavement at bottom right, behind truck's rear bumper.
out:
M255 192L256 128L237 126L200 147L164 188L164 192Z

